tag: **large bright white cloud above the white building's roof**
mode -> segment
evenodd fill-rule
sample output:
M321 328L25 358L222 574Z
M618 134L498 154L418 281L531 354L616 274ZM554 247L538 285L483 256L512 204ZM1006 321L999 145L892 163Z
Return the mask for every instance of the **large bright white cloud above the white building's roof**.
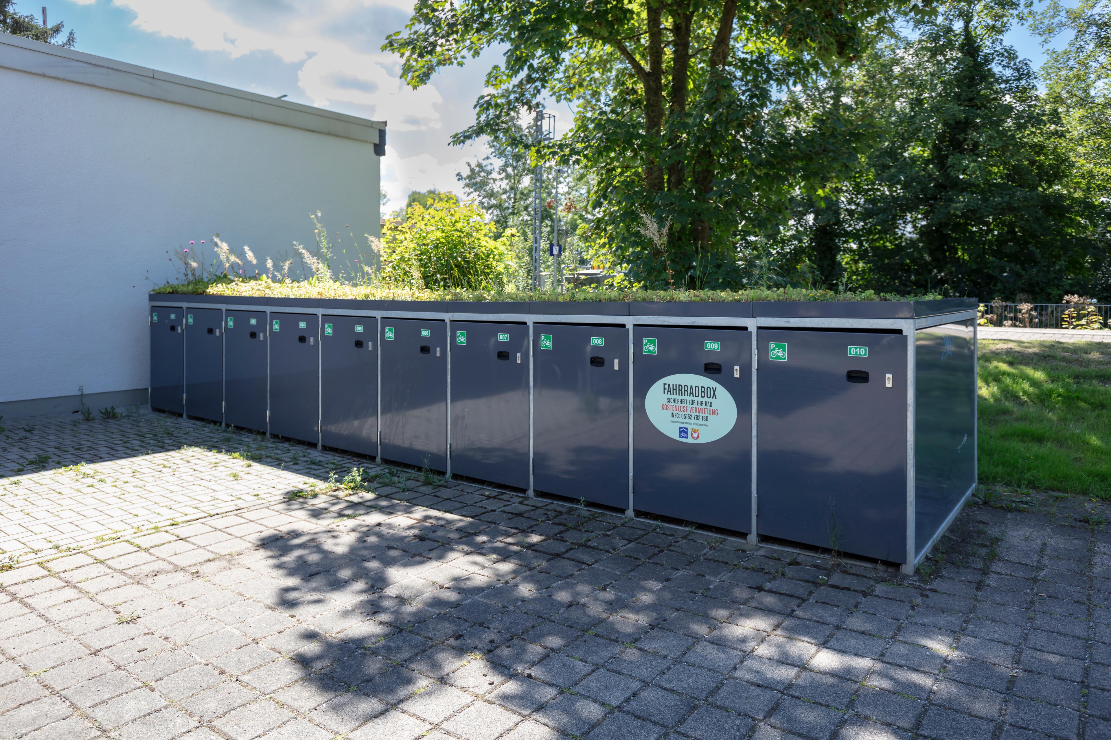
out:
M352 48L337 36L338 20L372 7L410 11L411 0L113 0L136 13L139 29L184 39L201 51L232 58L271 52L301 63L298 83L313 104L372 105L390 128L440 128L440 92L431 84L412 90L384 64L397 60ZM392 29L387 29L392 30Z

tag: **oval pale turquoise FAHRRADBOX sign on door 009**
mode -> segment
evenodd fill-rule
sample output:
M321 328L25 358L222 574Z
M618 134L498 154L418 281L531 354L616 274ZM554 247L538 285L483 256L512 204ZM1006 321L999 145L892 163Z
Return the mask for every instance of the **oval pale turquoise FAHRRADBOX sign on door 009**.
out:
M729 391L690 373L657 381L644 396L644 409L657 429L692 444L721 439L737 424L737 403Z

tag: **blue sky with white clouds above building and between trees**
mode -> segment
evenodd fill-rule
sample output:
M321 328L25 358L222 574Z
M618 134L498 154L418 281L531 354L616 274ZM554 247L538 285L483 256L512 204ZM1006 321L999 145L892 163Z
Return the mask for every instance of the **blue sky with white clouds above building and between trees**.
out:
M486 153L449 139L473 122L471 107L497 54L410 89L381 45L404 28L412 0L18 0L14 9L39 17L43 2L48 22L77 32L79 51L388 121L383 213L413 190L458 191L456 173ZM1007 41L1035 69L1044 60L1025 28ZM557 135L571 123L561 108L552 111Z

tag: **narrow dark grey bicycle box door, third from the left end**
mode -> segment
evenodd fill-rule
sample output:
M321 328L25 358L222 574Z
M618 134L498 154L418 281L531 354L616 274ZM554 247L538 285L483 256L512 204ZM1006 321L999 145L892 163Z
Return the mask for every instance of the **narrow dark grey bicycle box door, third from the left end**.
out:
M228 311L223 322L223 423L267 430L267 315Z

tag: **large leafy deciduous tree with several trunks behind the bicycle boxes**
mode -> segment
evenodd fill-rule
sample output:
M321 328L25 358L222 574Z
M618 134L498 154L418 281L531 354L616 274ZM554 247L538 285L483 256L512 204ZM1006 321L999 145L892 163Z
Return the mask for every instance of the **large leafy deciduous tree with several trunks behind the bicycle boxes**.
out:
M504 50L476 124L453 141L504 138L544 97L573 103L574 128L534 155L589 169L598 237L631 276L665 285L670 273L681 285L714 287L735 283L745 236L778 223L792 191L823 189L839 164L822 129L777 126L769 107L860 54L903 4L417 0L407 30L384 48L401 54L414 87ZM838 131L842 150L843 139ZM642 209L672 224L662 255L637 235Z

